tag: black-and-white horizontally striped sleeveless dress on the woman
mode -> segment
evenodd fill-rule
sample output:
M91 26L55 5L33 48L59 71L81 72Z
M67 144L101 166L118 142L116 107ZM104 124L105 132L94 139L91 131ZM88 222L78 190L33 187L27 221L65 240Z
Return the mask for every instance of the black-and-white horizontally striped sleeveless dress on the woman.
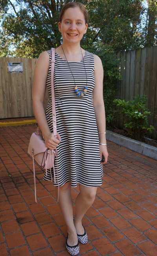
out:
M49 91L49 102L46 108L46 118L49 129L53 132L51 105L51 50L49 54L49 71L46 85ZM69 69L69 65L71 71ZM93 107L94 56L86 52L82 61L65 61L55 52L54 90L57 132L62 141L57 146L58 157L55 159L54 186L62 186L71 182L72 187L77 183L86 187L102 184L102 164L100 163L99 135ZM86 67L86 71L84 68ZM87 74L87 79L86 79ZM75 83L74 79L75 78ZM76 84L76 85L75 85ZM74 87L84 91L86 95L77 96ZM58 163L58 176L57 176ZM51 169L53 176L53 169ZM44 180L51 180L50 170L44 174Z

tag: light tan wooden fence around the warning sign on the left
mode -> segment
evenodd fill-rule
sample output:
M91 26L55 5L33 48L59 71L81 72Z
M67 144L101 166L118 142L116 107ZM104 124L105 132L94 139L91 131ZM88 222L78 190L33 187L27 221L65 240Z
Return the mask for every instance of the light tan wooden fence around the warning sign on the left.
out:
M9 73L7 62L22 62L23 73ZM37 59L0 58L0 119L32 117L33 72ZM44 108L49 93L46 90Z

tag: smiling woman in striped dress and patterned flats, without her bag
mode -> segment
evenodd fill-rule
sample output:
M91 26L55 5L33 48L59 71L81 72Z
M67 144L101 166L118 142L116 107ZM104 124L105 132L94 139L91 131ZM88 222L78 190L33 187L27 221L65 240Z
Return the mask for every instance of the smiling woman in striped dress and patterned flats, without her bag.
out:
M51 110L51 50L40 54L34 72L33 109L47 148L58 151L59 207L67 225L66 248L79 254L79 243L87 243L82 218L102 184L102 156L107 162L105 109L102 94L103 68L98 56L80 48L88 28L88 14L79 2L65 5L60 12L59 31L63 43L55 50L55 105L57 138L53 136ZM43 101L48 87L50 100L46 113ZM61 139L62 138L62 139ZM100 143L99 143L100 142ZM52 175L53 171L51 170ZM51 180L50 170L44 180ZM71 186L79 183L73 219Z

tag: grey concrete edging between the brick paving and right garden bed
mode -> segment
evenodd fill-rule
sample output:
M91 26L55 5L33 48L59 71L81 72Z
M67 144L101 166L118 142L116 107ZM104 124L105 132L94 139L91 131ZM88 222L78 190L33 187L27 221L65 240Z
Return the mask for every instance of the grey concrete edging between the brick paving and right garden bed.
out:
M157 160L156 147L136 141L135 139L130 139L120 134L116 134L115 132L110 132L108 130L106 130L106 139L120 146L133 150L134 152L138 152L143 156L148 156L154 160Z

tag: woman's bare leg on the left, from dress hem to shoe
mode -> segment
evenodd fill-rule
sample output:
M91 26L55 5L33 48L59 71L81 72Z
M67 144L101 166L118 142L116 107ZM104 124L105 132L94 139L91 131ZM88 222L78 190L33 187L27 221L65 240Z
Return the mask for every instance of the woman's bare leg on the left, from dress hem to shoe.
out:
M56 195L58 195L58 187L56 187ZM58 205L66 222L68 232L68 245L77 245L78 237L76 228L73 223L73 201L71 197L71 182L67 182L63 186L59 187Z

